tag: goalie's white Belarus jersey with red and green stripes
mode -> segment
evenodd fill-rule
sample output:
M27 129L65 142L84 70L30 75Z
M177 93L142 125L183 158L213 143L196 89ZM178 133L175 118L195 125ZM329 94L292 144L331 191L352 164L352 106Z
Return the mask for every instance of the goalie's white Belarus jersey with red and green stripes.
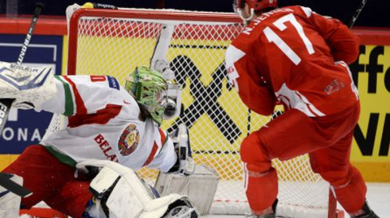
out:
M62 162L110 160L139 169L168 171L176 162L173 142L157 123L140 120L136 100L111 76L55 76L57 92L36 110L65 115L63 127L40 144Z

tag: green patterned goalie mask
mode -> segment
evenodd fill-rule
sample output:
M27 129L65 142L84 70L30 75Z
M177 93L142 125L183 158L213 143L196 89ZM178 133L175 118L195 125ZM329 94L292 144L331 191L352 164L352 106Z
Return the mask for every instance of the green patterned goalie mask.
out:
M167 82L158 71L137 67L126 78L125 89L161 124L167 102Z

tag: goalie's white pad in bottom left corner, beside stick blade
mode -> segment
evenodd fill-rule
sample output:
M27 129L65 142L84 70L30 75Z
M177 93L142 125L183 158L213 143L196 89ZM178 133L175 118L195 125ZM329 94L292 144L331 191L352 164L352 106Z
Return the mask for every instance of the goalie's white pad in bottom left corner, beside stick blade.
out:
M23 178L12 175L11 180L22 185ZM0 186L0 218L19 218L21 197Z

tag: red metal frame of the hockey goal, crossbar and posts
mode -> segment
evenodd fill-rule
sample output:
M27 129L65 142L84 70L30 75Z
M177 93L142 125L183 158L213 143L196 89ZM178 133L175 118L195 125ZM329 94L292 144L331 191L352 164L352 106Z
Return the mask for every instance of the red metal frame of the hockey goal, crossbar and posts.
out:
M241 19L232 13L212 13L212 12L188 12L188 11L176 11L176 10L147 10L147 9L118 9L118 10L107 10L107 9L87 9L81 8L77 10L69 23L69 51L68 51L68 67L67 74L76 75L78 74L78 64L83 63L78 59L78 43L79 37L85 36L88 33L81 33L79 31L80 28L80 19L83 18L118 18L118 19L135 19L137 22L140 20L145 20L147 22L154 22L156 20L170 20L170 21L183 21L183 22L215 22L215 25L219 25L219 23L241 23ZM94 21L95 22L95 21ZM133 25L133 24L129 24ZM192 29L185 34L183 38L191 37L196 34L197 31L203 31L203 27L195 26L191 27ZM205 27L207 29L207 27ZM229 28L235 28L234 26L226 26L226 27L218 27L211 28L210 31L216 31L215 33L211 33L209 36L214 37L215 40L220 40L221 37L219 35L219 31L227 30ZM118 29L116 27L108 27L107 30L112 32L117 32ZM120 30L119 30L120 31ZM228 34L231 32L227 31ZM136 36L139 33L133 33L131 36ZM95 36L99 36L95 35ZM142 36L141 36L142 37ZM179 36L176 36L179 37ZM197 36L199 38L203 36ZM232 37L233 38L233 37ZM80 62L80 63L78 63ZM191 131L191 130L190 130ZM206 151L207 152L207 151ZM328 218L343 218L344 215L342 212L336 210L336 200L333 197L331 191L329 191L328 196ZM219 200L215 201L231 201L237 202L236 200Z

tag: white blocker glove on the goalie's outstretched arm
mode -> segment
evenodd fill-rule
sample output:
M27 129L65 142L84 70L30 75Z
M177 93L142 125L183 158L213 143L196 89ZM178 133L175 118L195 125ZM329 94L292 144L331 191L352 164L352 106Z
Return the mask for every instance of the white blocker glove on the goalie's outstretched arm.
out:
M50 67L32 68L0 62L0 96L16 98L21 109L39 107L57 92Z

